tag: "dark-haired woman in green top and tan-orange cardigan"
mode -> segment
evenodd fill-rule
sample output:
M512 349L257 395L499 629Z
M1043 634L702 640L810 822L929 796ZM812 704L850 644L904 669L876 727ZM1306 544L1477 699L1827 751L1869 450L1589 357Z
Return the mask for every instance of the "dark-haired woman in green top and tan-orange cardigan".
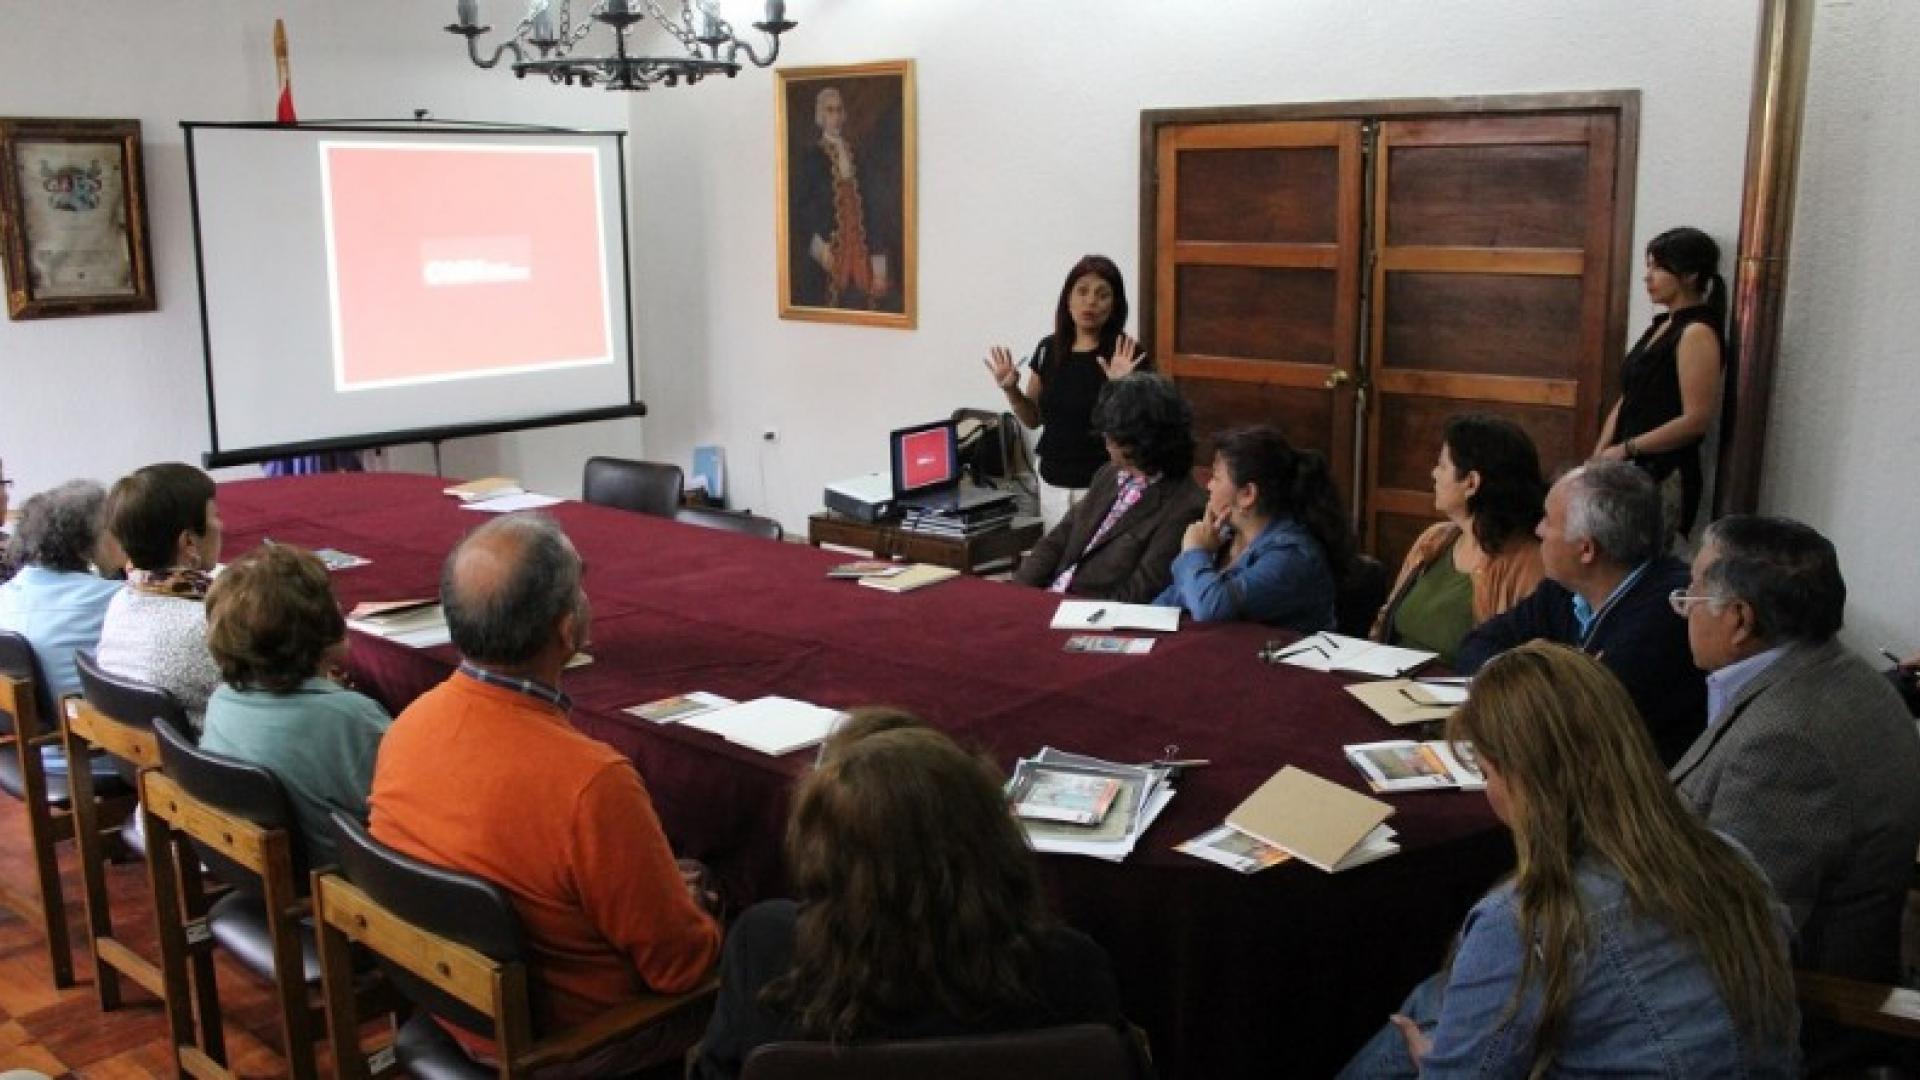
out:
M1448 421L1434 463L1434 509L1446 521L1413 542L1373 640L1440 653L1452 665L1469 630L1540 584L1534 527L1548 484L1521 425L1488 413Z

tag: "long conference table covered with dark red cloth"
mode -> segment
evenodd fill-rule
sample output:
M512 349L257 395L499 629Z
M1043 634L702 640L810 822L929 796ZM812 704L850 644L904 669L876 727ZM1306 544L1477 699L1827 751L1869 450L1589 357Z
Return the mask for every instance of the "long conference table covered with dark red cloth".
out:
M348 607L434 596L453 542L484 521L415 475L221 484L225 557L261 540L371 559L338 571ZM1041 855L1060 917L1114 959L1162 1076L1327 1076L1436 970L1473 901L1511 867L1478 794L1388 796L1402 851L1327 874L1238 874L1173 851L1283 765L1365 790L1342 744L1398 738L1332 675L1267 665L1290 634L1183 625L1146 655L1064 651L1058 598L954 578L908 594L831 580L845 555L586 503L551 513L586 559L593 632L566 673L572 723L637 767L678 853L733 903L783 896L781 834L812 751L766 757L622 709L689 690L818 705L900 705L1002 767L1043 746L1116 761L1208 759L1125 863ZM451 648L353 634L349 671L388 709L444 680ZM513 748L501 748L513 753Z

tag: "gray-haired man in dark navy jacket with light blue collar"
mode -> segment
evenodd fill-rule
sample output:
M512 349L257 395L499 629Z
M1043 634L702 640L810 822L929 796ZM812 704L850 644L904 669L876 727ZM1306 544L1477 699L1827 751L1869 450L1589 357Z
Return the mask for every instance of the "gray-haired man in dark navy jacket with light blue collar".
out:
M1461 675L1532 640L1559 642L1607 665L1672 765L1707 723L1707 682L1688 653L1686 623L1667 594L1686 563L1661 552L1661 492L1626 461L1590 461L1548 492L1534 528L1548 578L1459 646Z

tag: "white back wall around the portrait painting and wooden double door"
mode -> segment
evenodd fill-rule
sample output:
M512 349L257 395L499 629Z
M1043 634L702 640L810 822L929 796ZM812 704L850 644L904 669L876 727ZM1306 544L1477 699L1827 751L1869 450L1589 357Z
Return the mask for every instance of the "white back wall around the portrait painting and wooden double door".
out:
M1075 258L1104 252L1139 279L1140 110L1642 88L1638 242L1695 223L1732 246L1738 227L1749 0L902 8L795 0L801 27L781 61L916 61L914 332L776 317L766 73L634 102L636 142L672 148L636 163L655 200L636 236L649 452L724 444L735 502L789 527L818 507L824 480L885 467L889 429L996 405L981 356L1048 331ZM1634 296L1638 327L1649 309ZM760 442L764 427L778 444Z

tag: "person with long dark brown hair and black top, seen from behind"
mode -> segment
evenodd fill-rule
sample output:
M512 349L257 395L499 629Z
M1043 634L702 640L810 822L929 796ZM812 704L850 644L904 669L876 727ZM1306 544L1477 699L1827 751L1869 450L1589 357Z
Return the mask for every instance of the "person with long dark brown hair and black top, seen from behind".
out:
M922 726L837 746L787 821L799 899L728 932L693 1076L755 1047L1121 1026L1100 945L1054 922L1000 774Z

